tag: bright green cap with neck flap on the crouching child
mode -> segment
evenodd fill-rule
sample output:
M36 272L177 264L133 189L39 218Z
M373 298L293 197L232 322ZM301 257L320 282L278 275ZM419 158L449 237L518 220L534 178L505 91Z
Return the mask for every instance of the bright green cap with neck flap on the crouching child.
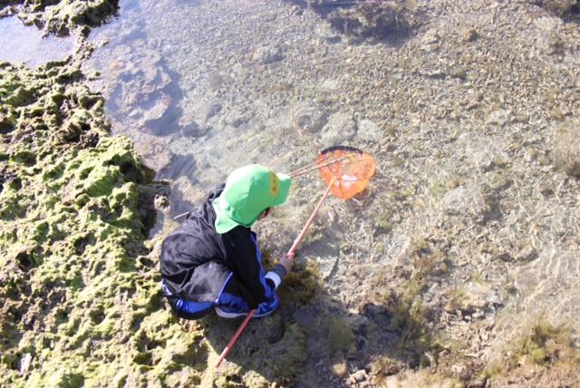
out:
M251 227L262 211L285 202L290 182L288 175L276 174L260 164L232 171L213 202L218 233L227 233L238 225Z

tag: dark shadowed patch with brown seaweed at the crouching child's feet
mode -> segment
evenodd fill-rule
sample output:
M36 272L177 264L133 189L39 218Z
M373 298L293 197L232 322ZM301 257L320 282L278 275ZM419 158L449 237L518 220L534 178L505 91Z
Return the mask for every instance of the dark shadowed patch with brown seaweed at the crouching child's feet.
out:
M417 312L391 292L353 313L328 293L313 268L296 263L278 290L279 310L250 322L214 381L241 386L242 376L254 371L285 385L343 386L351 373L364 370L372 383L380 383L403 369L434 362L441 349L425 325L429 312ZM242 319L212 313L200 322L220 353Z

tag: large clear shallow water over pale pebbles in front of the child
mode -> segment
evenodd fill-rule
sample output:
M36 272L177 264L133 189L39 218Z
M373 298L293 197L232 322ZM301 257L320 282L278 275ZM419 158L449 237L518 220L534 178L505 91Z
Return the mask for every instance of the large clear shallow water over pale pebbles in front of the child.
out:
M372 287L401 291L439 257L444 270L420 305L433 308L430 327L473 344L466 357L485 359L538 315L580 315L578 184L528 156L550 154L558 121L545 102L573 95L580 55L551 51L551 34L565 30L532 5L423 3L432 15L408 40L352 44L289 2L125 0L92 32L99 47L85 65L102 74L92 86L113 132L171 180L169 216L240 165L288 172L335 144L370 151L369 189L329 199L301 257L320 265L343 315L362 312ZM459 38L466 26L481 38ZM571 115L574 103L561 109ZM315 173L295 179L285 206L257 225L275 255L323 189ZM454 296L469 313L446 307Z

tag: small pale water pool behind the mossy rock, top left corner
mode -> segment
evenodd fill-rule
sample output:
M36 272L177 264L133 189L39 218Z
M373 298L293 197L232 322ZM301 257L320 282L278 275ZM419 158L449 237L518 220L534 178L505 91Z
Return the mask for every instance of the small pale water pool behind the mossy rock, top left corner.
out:
M34 25L26 26L16 16L0 19L0 60L31 67L62 61L73 53L74 38L43 37Z

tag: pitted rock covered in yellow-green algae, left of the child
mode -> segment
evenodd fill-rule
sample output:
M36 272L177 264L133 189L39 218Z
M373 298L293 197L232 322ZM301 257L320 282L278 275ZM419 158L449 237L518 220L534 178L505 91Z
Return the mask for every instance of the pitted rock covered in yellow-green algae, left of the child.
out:
M14 128L0 134L0 385L144 386L191 368L201 334L164 309L154 261L140 259L151 171L109 136L101 96L72 64L0 69Z

